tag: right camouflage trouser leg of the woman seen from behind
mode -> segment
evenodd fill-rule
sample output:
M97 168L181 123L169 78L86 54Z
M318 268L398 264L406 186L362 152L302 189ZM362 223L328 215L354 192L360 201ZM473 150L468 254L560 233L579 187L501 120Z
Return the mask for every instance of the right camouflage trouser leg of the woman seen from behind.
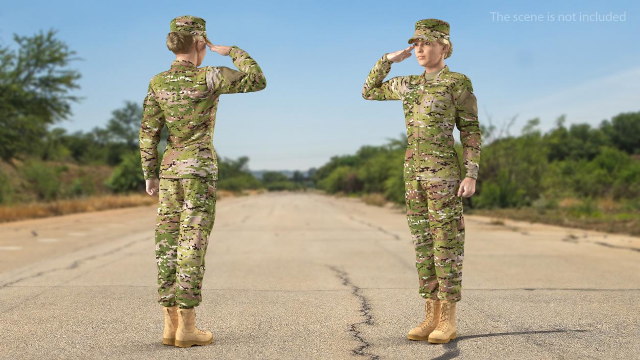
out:
M215 220L216 181L181 180L184 204L180 214L176 299L180 308L193 308L202 301L205 254Z

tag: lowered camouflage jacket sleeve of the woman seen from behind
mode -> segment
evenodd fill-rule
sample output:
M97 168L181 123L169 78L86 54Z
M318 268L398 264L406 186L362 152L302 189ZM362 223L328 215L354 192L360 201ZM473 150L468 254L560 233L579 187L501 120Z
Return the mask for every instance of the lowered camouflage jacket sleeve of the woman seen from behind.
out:
M163 127L164 113L157 102L156 93L149 83L147 96L142 105L142 121L140 125L140 160L145 180L156 178L157 147Z

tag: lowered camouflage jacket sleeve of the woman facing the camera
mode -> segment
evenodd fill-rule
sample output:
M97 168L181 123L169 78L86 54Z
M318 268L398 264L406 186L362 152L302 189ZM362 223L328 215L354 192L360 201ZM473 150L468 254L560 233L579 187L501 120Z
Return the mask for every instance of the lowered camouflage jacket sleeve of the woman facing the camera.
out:
M477 179L480 168L481 132L478 121L476 95L471 80L464 76L453 91L456 108L456 127L460 130L460 142L463 148L465 176Z

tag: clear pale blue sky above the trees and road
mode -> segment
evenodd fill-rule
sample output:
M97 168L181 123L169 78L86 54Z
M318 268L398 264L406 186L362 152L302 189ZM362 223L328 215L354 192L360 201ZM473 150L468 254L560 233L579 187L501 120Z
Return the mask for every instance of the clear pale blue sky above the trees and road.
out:
M405 131L401 102L364 100L361 91L376 60L406 47L420 19L451 24L454 52L445 63L472 80L481 123L491 119L500 127L516 116L510 132L519 134L536 117L546 131L561 114L567 124L597 126L639 111L639 7L632 1L28 1L3 6L0 44L13 46L13 33L57 29L83 58L70 67L83 75L74 95L85 97L58 126L89 131L104 126L125 100L141 104L151 77L170 66L169 21L203 17L211 41L247 51L268 83L256 93L221 96L218 154L246 155L253 170L306 170ZM599 21L596 13L623 18ZM202 65L234 67L214 52ZM423 70L412 56L394 64L387 79Z

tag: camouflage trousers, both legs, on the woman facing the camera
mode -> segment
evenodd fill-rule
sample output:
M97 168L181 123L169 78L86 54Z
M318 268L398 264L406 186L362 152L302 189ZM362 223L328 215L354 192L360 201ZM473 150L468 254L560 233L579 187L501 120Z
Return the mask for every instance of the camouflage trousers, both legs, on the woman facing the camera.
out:
M465 219L460 180L405 180L407 223L415 246L419 293L460 301Z

